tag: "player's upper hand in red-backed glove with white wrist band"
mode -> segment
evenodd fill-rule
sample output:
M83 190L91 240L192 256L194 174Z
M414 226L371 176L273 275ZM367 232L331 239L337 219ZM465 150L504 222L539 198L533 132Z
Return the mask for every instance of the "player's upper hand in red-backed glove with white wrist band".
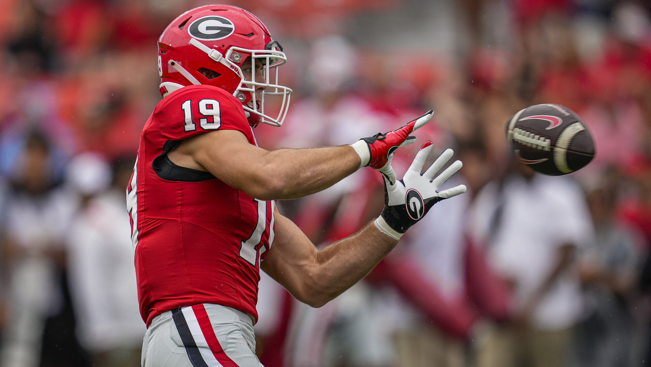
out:
M415 136L409 136L411 132L418 130L421 126L425 125L432 119L434 111L427 111L421 117L409 121L402 127L382 134L378 132L374 136L362 138L357 143L352 144L359 158L361 158L361 166L370 166L372 168L383 170L383 173L389 177L393 176L395 182L395 173L391 168L391 158L398 147L404 147L416 141Z

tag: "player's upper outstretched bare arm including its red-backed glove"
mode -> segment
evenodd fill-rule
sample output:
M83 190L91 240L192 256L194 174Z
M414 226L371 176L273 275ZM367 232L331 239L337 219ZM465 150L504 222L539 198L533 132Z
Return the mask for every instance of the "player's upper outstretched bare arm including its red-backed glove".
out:
M186 139L168 153L179 166L210 171L232 188L256 199L294 199L332 186L363 166L390 169L395 150L415 141L413 130L432 111L388 132L353 145L266 151L251 145L237 130L216 130Z

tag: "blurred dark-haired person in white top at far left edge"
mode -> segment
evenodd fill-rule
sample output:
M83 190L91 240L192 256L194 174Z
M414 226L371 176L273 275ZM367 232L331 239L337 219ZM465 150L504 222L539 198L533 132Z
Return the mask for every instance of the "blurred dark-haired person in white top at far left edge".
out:
M19 159L3 229L10 278L0 366L36 367L46 319L62 306L64 236L78 204L76 194L54 180L46 138L29 134Z

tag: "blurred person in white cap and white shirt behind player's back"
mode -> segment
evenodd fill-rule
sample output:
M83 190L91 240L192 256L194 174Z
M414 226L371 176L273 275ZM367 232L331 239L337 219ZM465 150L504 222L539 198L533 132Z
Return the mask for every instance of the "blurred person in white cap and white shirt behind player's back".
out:
M122 193L134 163L133 159L117 160L111 174L102 156L84 153L68 168L85 196L67 239L70 293L77 338L96 367L140 365L146 329L138 312L133 247Z

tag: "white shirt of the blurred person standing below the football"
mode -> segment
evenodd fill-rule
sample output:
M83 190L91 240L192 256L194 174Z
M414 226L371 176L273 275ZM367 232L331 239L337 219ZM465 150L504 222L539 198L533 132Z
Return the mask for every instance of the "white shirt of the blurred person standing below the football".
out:
M490 238L496 208L502 203L499 229ZM488 248L493 266L516 281L514 309L525 306L555 267L559 248L574 244L581 250L593 243L594 229L577 184L566 177L536 174L507 179L501 194L497 183L487 184L471 209L471 232ZM534 311L535 327L561 330L583 316L579 274L566 269Z

